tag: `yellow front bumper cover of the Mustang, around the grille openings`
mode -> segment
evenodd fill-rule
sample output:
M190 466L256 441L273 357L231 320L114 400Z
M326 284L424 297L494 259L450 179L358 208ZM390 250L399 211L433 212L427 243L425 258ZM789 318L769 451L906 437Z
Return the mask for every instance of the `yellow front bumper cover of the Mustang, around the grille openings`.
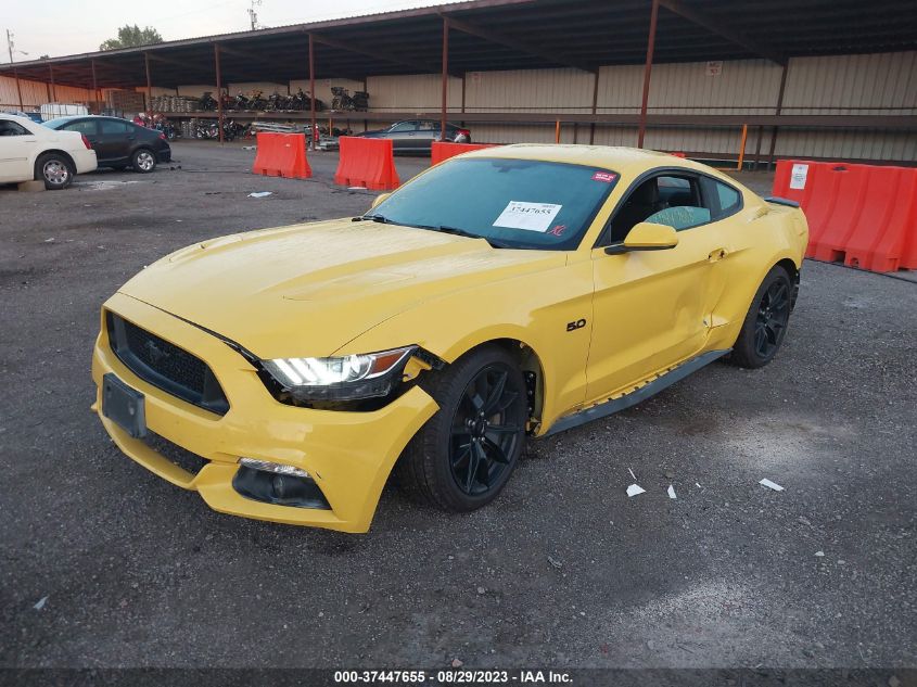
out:
M241 355L212 334L124 294L115 294L104 307L205 360L226 392L230 408L219 416L147 383L112 352L103 319L92 356L92 379L98 387L92 409L127 456L173 484L198 492L219 512L366 532L395 461L438 408L418 386L372 412L288 406L268 393ZM107 372L144 394L151 432L209 462L193 474L105 418L101 383ZM240 457L302 468L315 480L330 510L278 506L242 496L232 486Z

